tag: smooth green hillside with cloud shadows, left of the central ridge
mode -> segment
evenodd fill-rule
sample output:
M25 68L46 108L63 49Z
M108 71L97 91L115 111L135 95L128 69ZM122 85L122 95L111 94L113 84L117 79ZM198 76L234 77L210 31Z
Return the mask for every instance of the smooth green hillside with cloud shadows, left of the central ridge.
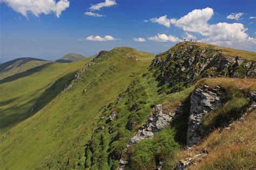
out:
M48 63L0 80L0 134L35 113L33 105L39 98L44 97L42 105L49 102L89 60L72 64Z

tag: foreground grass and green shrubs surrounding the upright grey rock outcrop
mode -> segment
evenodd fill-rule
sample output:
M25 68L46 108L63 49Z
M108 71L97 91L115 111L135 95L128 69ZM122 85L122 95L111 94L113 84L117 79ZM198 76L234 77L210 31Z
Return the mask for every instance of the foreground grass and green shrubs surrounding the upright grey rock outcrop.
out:
M224 98L226 104L208 115L203 125L207 132L212 132L207 127L215 127L213 133L206 140L196 147L182 149L186 141L187 116L190 105L184 103L189 99L190 92L194 87L190 87L179 93L169 94L163 102L165 110L173 110L180 101L185 104L184 115L175 120L170 127L165 128L153 139L141 141L138 145L132 146L129 150L131 169L156 169L156 161L165 161L164 169L173 169L181 159L190 158L193 154L199 154L203 149L210 153L209 158L203 162L196 162L197 166L192 169L227 169L235 168L247 169L255 168L252 160L255 159L255 128L249 128L255 124L255 111L242 123L235 123L229 131L221 131L221 127L230 121L231 117L237 119L241 115L241 108L248 106L246 94L256 90L255 79L237 78L212 78L203 79L197 86L208 85L213 88L215 85L225 89ZM190 102L190 100L188 100ZM209 125L210 123L210 125ZM215 129L214 128L214 129ZM185 135L184 135L185 134ZM170 142L171 141L171 142ZM180 148L180 149L179 149ZM223 161L223 160L225 161ZM221 164L220 164L221 162ZM252 168L253 169L253 168Z

